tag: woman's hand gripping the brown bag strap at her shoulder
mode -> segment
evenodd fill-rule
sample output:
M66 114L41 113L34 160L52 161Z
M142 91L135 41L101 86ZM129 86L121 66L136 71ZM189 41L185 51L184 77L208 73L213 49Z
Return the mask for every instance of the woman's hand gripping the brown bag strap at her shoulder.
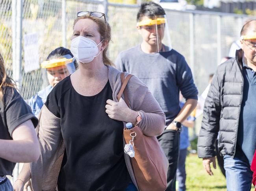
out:
M119 102L107 100L106 113L109 118L114 120L131 122L132 124L137 122L137 112L130 109L122 98L120 98Z

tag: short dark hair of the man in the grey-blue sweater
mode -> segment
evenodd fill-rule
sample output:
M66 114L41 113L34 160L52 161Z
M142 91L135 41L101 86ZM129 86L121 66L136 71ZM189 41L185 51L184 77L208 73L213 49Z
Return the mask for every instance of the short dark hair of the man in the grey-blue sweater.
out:
M141 21L143 16L152 17L155 15L165 15L163 8L152 1L141 4L141 7L137 13L137 22Z

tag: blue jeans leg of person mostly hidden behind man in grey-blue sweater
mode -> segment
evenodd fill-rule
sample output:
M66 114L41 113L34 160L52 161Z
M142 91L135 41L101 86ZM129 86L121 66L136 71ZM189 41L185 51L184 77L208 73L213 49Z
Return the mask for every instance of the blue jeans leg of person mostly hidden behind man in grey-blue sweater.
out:
M187 149L181 149L179 160L178 160L178 168L176 171L176 179L179 182L179 191L186 190L186 169L185 169L185 162L187 156Z

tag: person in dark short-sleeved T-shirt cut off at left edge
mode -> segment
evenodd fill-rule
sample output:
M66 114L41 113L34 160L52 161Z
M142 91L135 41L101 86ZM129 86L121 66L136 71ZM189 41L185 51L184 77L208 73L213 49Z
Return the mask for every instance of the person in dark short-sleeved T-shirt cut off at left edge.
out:
M17 162L37 161L40 155L35 134L38 120L6 74L0 54L0 190L13 191L6 175L12 176ZM24 185L17 179L16 182Z

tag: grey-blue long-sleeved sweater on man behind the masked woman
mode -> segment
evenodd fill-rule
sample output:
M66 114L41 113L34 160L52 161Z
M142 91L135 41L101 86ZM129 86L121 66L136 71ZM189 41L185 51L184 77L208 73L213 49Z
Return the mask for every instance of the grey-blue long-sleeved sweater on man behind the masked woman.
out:
M137 76L148 86L165 113L166 126L180 112L180 91L186 100L197 100L198 92L191 69L184 56L174 49L147 54L138 45L121 52L115 64L117 69Z

